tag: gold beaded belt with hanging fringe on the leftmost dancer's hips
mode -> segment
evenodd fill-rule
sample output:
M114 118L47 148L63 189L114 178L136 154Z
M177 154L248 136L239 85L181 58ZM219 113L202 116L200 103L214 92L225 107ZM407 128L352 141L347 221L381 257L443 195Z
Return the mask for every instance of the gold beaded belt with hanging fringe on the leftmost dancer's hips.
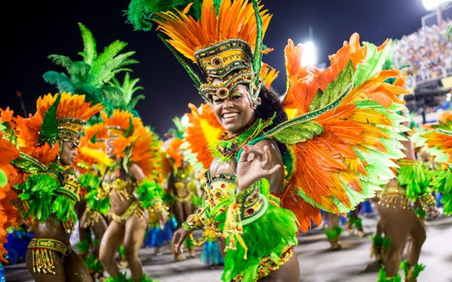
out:
M32 250L32 267L36 274L55 275L54 252L59 252L63 260L71 254L69 245L52 238L32 238L28 249Z

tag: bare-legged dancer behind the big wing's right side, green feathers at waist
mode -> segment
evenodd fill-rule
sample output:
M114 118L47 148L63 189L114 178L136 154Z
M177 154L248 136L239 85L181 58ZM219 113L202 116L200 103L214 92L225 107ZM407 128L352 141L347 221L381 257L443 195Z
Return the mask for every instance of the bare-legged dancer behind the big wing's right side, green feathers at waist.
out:
M387 253L383 252L383 248L381 249L382 256L380 256L384 268L380 271L379 281L400 281L398 269L409 237L411 241L407 260L401 267L405 274L405 281L417 281L417 276L424 269L424 265L418 262L422 245L426 240L426 232L424 224L415 213L413 204L419 202L432 219L438 216L436 202L432 196L432 190L429 189L430 177L422 168L422 163L416 159L411 137L407 135L406 139L402 141L406 157L399 161L400 168L395 170L397 177L391 179L386 185L379 195L376 206L380 214L378 227L379 231L384 233L384 239L381 241L377 233L374 241L380 241L386 248L389 245Z

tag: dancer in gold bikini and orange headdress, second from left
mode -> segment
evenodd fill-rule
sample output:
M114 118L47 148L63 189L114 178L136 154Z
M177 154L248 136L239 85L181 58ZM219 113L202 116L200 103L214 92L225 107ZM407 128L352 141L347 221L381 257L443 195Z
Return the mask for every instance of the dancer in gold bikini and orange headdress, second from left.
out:
M143 274L138 250L143 245L149 212L165 220L162 188L155 183L160 165L160 142L140 118L115 109L111 116L101 113L107 125L107 155L114 164L102 179L102 194L109 197L111 221L100 242L100 262L111 278L124 281L114 254L124 242L126 260L135 281L149 281ZM122 280L121 280L122 279Z

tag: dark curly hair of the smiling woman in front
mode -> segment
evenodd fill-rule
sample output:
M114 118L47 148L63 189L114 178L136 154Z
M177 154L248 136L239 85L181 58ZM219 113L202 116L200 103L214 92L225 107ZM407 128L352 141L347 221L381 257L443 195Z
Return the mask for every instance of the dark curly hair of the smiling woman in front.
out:
M259 97L261 98L261 104L256 107L255 114L257 118L262 118L265 121L276 113L272 125L268 126L265 131L268 131L276 125L287 121L287 114L281 105L280 94L275 92L273 88L268 89L266 87L262 87L261 92L259 92ZM283 143L278 141L276 141L276 143L278 144L281 154L288 152L287 147Z

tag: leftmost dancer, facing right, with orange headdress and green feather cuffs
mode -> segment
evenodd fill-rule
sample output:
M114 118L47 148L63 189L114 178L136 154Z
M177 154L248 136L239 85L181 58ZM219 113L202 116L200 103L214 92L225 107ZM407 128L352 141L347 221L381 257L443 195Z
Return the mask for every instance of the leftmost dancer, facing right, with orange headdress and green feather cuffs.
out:
M35 281L91 281L69 244L80 200L78 174L71 164L83 125L100 109L100 104L85 103L84 95L48 94L37 100L36 114L16 119L20 157L11 163L25 182L15 188L28 204L24 218L42 223L26 255Z

